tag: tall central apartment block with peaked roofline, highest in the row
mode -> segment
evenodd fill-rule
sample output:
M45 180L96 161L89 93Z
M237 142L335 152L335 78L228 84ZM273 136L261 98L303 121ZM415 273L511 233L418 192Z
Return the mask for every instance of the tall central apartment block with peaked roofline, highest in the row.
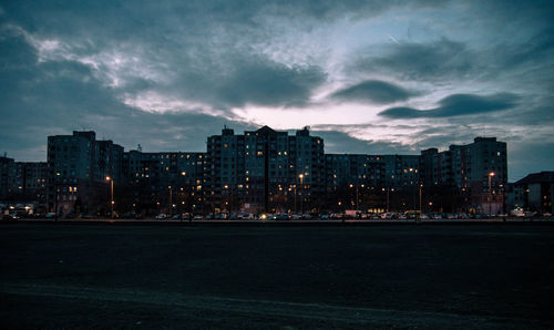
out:
M207 203L214 210L289 212L320 208L325 195L324 141L268 126L207 141Z

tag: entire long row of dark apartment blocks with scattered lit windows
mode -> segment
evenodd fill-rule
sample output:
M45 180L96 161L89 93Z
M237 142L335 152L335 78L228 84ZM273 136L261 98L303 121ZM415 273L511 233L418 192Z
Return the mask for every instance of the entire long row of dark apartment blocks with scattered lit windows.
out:
M506 144L476 137L420 155L325 154L308 127L225 127L206 152L125 152L94 132L48 137L47 163L0 157L0 197L106 214L505 212ZM514 189L520 189L514 187ZM522 197L523 198L523 197Z

